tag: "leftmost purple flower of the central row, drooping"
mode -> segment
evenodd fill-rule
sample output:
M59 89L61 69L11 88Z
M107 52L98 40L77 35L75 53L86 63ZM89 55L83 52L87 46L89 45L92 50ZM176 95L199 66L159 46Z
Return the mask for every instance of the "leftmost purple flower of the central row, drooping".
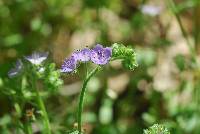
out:
M64 63L61 66L61 72L69 73L76 69L77 60L74 56L71 56L68 59L65 59Z

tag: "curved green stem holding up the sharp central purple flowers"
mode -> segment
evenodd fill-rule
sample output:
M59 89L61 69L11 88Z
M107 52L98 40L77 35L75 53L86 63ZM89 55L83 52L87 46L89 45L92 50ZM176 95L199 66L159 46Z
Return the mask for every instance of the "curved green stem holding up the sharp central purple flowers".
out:
M79 97L79 106L78 106L78 131L81 133L81 122L82 122L82 111L83 111L83 100L84 100L84 95L86 91L87 84L89 80L91 79L92 76L96 74L96 72L99 70L99 67L96 67L91 73L89 73L86 76L86 79L83 82L83 86L81 89L80 97Z

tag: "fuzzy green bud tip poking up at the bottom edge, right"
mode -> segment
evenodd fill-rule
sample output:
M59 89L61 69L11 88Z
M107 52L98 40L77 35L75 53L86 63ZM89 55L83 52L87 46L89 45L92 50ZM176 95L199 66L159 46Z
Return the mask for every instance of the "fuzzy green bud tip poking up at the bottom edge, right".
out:
M153 126L144 130L144 134L170 134L170 132L163 125L154 124Z

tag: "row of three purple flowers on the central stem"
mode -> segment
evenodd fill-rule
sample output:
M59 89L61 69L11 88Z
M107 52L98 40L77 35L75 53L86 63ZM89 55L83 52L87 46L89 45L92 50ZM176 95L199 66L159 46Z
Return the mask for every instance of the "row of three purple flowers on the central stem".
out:
M112 56L112 49L104 48L97 44L93 49L84 48L80 51L74 52L71 57L65 59L61 66L61 72L72 72L76 69L79 62L92 61L97 65L105 65L109 62Z

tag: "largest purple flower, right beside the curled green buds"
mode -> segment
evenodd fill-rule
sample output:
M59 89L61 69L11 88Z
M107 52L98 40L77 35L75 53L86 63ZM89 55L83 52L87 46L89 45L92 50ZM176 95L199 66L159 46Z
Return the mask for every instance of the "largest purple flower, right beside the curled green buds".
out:
M97 44L95 48L91 50L91 61L98 65L105 65L109 62L112 55L112 49L110 47L103 48L102 45Z

